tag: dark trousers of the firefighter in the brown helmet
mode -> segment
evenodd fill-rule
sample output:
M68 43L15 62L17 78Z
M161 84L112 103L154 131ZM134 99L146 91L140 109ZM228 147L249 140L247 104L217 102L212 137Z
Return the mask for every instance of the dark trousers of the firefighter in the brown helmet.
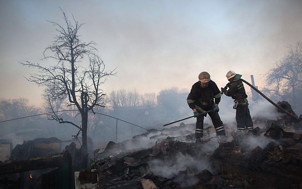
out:
M223 127L223 123L220 120L218 112L209 112L210 118L212 119L217 135L225 135L226 132ZM204 116L197 117L195 137L202 137L204 132Z

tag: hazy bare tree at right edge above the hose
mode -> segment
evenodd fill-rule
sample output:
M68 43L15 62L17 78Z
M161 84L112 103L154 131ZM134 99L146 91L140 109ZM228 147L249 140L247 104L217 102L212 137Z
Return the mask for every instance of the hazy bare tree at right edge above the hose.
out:
M297 43L296 47L289 46L288 54L276 62L274 68L266 73L267 91L284 99L291 95L290 101L295 107L299 101L297 96L302 90L302 46Z

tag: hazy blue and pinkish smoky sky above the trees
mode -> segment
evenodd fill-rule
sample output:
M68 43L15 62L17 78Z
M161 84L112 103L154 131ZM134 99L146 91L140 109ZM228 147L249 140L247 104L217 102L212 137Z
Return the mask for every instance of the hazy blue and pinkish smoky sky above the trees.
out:
M105 93L129 88L140 93L191 88L201 71L219 87L234 70L263 86L265 74L286 46L302 41L302 1L0 1L0 98L41 103L38 86L24 76L52 44L62 12L85 23L83 41L95 41L117 76ZM44 61L45 62L45 61ZM48 63L48 62L46 62ZM53 62L49 62L53 63Z

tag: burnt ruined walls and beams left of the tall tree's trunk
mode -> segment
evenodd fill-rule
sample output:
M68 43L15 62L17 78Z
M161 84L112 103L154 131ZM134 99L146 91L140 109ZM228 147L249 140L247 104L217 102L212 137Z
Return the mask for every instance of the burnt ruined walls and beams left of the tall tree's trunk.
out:
M36 138L16 145L10 158L0 161L0 188L43 188L41 184L54 181L55 177L50 178L49 175L57 174L53 171L60 172L60 167L70 166L70 172L76 171L81 163L80 150L72 142L61 152L61 143L60 139L51 137ZM67 161L70 161L70 165L65 165ZM43 180L43 176L49 179ZM72 175L69 177L74 178Z

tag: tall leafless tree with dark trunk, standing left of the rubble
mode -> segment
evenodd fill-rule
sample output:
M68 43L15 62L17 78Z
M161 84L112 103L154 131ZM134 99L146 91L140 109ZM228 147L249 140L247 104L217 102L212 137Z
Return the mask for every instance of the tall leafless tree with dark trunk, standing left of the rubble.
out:
M62 11L63 12L63 11ZM29 61L21 63L24 66L34 67L39 70L37 74L31 74L28 81L45 86L45 93L49 96L50 109L53 110L54 99L67 98L67 106L76 106L81 115L81 125L70 121L64 121L56 113L48 116L48 119L56 120L59 123L70 123L79 128L82 132L81 158L83 167L87 166L87 124L88 111L93 111L95 106L104 107L103 91L100 86L107 76L114 75L115 71L105 71L104 62L97 54L95 42L82 42L78 34L82 24L79 24L73 17L73 23L63 12L65 25L49 21L56 26L58 34L53 44L43 52L43 59L56 60L55 65L42 66ZM88 66L82 61L87 61Z

